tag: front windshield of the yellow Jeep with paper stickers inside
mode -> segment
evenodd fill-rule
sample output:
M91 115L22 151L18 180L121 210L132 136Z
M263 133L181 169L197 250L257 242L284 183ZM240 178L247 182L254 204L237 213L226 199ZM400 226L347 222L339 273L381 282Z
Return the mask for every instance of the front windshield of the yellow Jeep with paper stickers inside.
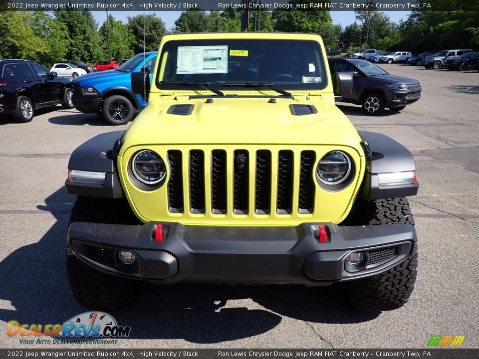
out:
M161 89L185 88L160 81L208 82L210 88L222 90L225 83L229 89L250 90L242 86L245 82L305 90L327 85L321 47L311 40L177 40L168 41L161 56L156 79Z

